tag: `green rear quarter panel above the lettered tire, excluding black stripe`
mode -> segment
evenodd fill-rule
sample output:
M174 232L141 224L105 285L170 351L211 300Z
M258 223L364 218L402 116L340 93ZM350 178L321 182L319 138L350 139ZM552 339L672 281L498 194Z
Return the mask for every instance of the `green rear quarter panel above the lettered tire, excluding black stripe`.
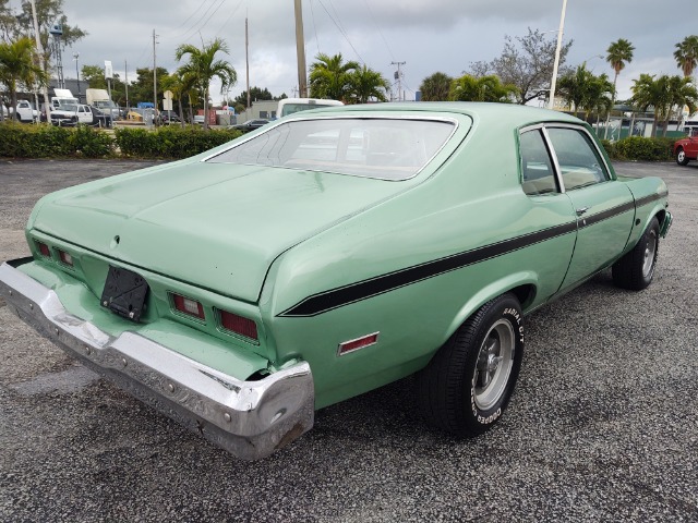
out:
M533 307L559 287L574 233L329 311L288 315L304 299L328 290L370 285L382 275L399 280L402 269L568 222L566 198L535 205L520 188L516 131L504 123L482 132L477 126L476 121L457 154L440 158L435 175L296 246L273 265L260 303L268 341L279 362L300 357L311 364L317 408L420 369L493 296L532 284L537 292L526 306ZM340 342L372 332L380 332L376 344L337 355Z

